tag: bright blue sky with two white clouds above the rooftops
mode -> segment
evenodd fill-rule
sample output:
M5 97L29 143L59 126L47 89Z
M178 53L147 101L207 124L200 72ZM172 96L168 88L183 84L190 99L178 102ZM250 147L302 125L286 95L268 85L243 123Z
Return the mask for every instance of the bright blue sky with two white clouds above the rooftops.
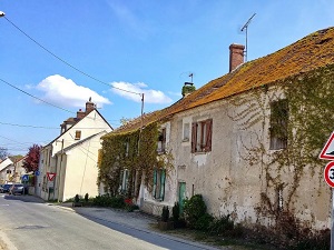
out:
M140 116L143 93L151 112L184 82L226 74L254 13L248 61L334 24L333 0L0 0L0 148L12 156L52 141L89 98L116 129Z

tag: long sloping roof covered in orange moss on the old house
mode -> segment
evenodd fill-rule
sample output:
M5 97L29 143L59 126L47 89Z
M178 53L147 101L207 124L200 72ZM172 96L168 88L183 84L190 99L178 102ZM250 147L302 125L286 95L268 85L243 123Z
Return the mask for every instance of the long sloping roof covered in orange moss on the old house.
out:
M114 130L127 132L167 119L177 112L220 100L247 90L274 83L287 77L312 71L334 63L334 28L318 30L272 54L242 64L217 78L170 107L158 110Z

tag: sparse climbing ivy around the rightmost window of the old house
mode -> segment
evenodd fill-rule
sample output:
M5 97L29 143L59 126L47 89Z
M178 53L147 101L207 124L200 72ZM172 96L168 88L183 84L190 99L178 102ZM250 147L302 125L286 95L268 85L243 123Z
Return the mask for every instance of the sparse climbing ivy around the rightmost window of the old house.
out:
M273 199L273 190L284 188L287 199L283 210L288 213L297 200L296 191L303 176L306 172L322 176L324 162L318 159L318 153L334 127L333 87L334 66L327 66L276 81L269 87L254 89L244 99L230 100L229 103L239 111L228 116L238 123L240 130L252 130L255 124L262 128L257 132L252 130L255 132L252 132L250 140L254 141L250 146L242 140L245 150L239 152L249 167L261 166L261 179L264 180L257 208L261 214L274 218L282 214L276 198ZM277 113L273 113L271 103L282 99L286 100L288 112L278 109ZM276 133L287 134L285 149L268 150L266 143L269 139L271 117L276 121L288 118L286 131L282 124L274 128ZM291 180L284 179L286 173L291 174Z

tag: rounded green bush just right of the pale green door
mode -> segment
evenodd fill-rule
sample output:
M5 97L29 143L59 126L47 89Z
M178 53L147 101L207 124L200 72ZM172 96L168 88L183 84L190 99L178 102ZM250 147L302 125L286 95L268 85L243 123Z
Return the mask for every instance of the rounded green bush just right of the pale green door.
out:
M195 228L196 221L206 213L206 204L202 194L195 194L185 200L184 214L189 228Z

